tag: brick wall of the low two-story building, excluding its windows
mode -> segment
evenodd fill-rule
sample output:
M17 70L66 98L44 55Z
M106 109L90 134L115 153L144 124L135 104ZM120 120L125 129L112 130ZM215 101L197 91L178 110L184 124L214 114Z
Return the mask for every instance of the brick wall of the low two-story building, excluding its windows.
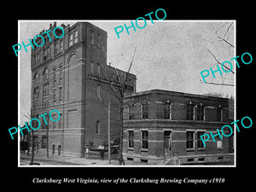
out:
M141 103L148 102L148 119L141 118ZM168 101L172 103L172 117L164 119L165 106ZM192 94L183 94L172 91L164 90L148 90L141 93L127 96L125 104L133 104L133 108L129 110L134 113L134 119L125 119L125 137L124 137L124 154L125 157L135 158L136 160L161 160L165 159L164 149L164 131L172 131L171 134L171 156L193 156L205 154L228 154L229 141L228 137L224 137L222 141L222 148L217 148L217 142L213 143L212 140L207 142L205 148L198 148L197 132L203 131L216 131L228 122L228 100L218 97L210 96L196 96ZM191 103L196 106L204 106L205 117L204 120L187 120L186 119L186 106ZM221 106L223 122L217 122L217 108ZM130 112L131 112L130 111ZM128 112L128 109L126 109ZM134 148L127 148L127 130L134 131ZM148 130L148 150L142 150L141 131ZM187 131L193 131L194 134L194 147L187 148ZM216 138L217 139L217 138ZM220 143L218 143L219 145ZM199 145L200 146L200 145ZM169 154L170 155L170 154ZM155 159L156 158L156 159Z

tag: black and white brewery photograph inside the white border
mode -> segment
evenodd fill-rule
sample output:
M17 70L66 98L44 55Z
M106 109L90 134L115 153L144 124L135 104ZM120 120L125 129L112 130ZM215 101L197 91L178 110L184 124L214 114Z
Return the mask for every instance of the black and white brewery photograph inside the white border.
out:
M19 32L20 166L236 166L235 131L216 131L234 121L236 67L222 63L236 20L20 20Z

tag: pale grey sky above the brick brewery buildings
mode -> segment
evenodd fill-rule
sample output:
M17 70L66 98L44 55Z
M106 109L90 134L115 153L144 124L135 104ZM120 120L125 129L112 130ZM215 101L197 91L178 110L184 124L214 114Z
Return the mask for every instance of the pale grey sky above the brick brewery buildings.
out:
M130 34L119 33L117 37L114 27L131 26L131 20L20 20L19 42L28 44L28 38L33 38L42 30L49 29L49 24L56 21L57 26L77 21L89 21L95 26L108 32L108 63L127 71L132 55L136 49L131 73L137 75L137 91L143 90L172 90L192 94L218 93L223 96L235 96L234 86L223 86L203 83L201 71L217 69L217 62L207 49L211 50L219 61L230 61L235 57L235 49L221 41L228 38L235 44L236 27L230 27L232 20L147 20L143 29L131 27ZM135 20L133 20L135 22ZM140 22L140 21L139 21ZM143 21L142 21L143 22ZM138 23L143 26L143 23ZM235 26L235 25L233 25ZM125 28L125 27L124 27ZM14 53L15 54L15 53ZM31 107L31 48L26 52L19 51L20 67L20 123L27 121L26 115ZM234 61L231 61L234 65ZM215 73L207 77L208 82L234 84L235 75Z

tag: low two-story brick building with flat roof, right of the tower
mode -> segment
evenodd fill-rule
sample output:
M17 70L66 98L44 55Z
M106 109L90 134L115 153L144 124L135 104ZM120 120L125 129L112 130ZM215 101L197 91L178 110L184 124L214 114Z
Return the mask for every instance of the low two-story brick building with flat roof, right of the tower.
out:
M230 123L227 98L147 90L126 96L124 107L125 160L183 164L233 158L230 137L215 137L216 143L211 138L206 147L200 138Z

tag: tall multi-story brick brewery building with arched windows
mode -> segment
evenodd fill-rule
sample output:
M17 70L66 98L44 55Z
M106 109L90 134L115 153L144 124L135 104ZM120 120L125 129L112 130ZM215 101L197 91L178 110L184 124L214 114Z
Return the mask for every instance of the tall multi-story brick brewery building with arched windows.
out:
M55 27L56 22L47 31ZM127 73L107 65L107 32L89 22L61 27L63 38L49 32L49 39L44 31L40 32L44 46L32 49L32 117L52 109L61 113L59 121L47 119L49 125L43 123L35 131L35 143L39 148L48 144L53 153L83 157L84 146L89 143L95 147L108 143L108 102L113 113L119 111L117 77ZM36 39L37 44L43 44L40 41L42 38ZM136 76L129 73L125 93L135 91ZM111 141L119 138L120 124L119 113L113 113Z

